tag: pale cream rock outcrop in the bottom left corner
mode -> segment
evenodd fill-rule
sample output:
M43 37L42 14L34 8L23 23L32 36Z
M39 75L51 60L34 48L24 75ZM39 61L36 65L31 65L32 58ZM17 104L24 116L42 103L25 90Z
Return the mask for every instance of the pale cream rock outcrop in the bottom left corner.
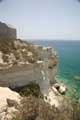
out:
M17 112L21 97L9 88L0 87L0 120L11 120Z

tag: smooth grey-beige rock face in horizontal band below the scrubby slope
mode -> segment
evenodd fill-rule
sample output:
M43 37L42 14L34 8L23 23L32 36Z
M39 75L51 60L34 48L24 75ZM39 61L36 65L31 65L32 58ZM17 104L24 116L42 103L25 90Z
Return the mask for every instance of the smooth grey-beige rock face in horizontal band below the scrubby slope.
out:
M37 63L15 66L10 69L1 70L0 86L15 88L34 82L39 84L41 90L43 90L47 81L45 81L45 74L43 74L42 71L43 64Z

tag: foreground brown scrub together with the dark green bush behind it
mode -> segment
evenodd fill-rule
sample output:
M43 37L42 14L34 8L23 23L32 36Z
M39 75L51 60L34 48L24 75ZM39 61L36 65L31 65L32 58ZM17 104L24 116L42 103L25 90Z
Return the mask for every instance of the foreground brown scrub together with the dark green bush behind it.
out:
M13 120L80 120L80 103L65 98L56 108L46 103L37 84L16 89L23 99Z

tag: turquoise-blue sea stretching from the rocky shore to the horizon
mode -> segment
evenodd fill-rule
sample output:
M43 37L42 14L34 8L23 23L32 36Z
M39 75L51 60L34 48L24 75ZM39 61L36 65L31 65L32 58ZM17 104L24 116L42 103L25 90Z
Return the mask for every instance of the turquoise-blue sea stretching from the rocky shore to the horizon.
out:
M37 40L31 42L55 48L58 56L58 70L55 78L67 85L67 95L80 98L80 41Z

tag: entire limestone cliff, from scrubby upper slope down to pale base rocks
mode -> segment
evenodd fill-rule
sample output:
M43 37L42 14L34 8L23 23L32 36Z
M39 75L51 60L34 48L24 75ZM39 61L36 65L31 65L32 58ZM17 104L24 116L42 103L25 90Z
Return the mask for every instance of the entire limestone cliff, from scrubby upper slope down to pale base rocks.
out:
M59 105L54 93L57 57L51 47L30 44L19 39L0 38L0 86L15 88L37 83L44 100Z

